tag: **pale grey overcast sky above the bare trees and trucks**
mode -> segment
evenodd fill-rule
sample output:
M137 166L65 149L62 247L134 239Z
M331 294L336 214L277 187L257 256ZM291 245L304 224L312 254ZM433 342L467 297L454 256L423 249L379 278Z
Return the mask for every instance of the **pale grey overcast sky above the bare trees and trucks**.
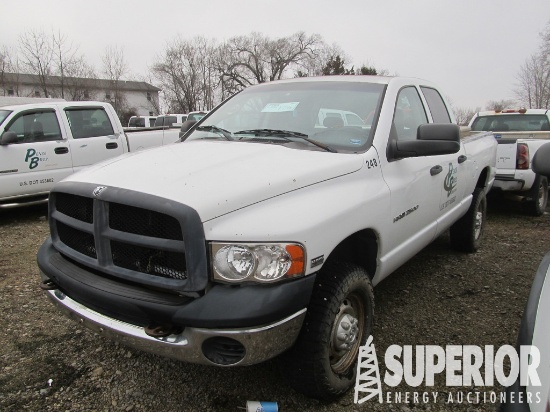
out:
M4 0L3 3L7 3ZM24 0L3 4L0 47L30 29L61 31L101 72L123 48L136 78L178 35L223 41L298 31L338 44L349 63L437 83L451 104L514 99L517 73L550 24L550 0Z

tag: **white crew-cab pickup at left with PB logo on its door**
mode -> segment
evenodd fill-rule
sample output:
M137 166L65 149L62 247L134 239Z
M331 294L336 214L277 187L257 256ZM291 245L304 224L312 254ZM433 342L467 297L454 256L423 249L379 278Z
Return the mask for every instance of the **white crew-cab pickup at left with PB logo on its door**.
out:
M0 209L44 202L71 173L129 151L178 140L179 130L126 135L108 103L0 107Z

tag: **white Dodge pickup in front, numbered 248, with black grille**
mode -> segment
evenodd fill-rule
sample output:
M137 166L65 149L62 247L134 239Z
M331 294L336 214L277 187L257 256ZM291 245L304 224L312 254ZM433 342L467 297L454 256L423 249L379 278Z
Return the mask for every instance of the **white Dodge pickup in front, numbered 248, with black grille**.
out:
M42 288L98 333L176 359L279 354L292 385L355 383L372 286L450 228L475 251L494 180L491 133L459 138L429 82L327 76L249 87L182 143L56 185ZM374 113L357 126L320 112Z

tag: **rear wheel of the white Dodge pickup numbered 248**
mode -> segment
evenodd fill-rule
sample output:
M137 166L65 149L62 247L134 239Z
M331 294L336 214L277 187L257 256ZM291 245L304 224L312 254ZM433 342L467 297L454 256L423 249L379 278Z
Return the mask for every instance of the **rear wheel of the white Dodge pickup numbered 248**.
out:
M485 222L487 220L487 199L485 190L474 190L472 204L464 216L451 226L451 245L454 249L472 253L479 249Z

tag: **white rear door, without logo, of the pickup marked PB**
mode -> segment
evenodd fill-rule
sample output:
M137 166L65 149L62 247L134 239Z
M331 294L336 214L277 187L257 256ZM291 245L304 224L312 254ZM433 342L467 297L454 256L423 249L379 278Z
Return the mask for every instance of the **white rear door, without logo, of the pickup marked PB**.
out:
M75 171L124 153L123 134L116 133L113 119L104 107L67 107L64 120L73 137L71 153Z

